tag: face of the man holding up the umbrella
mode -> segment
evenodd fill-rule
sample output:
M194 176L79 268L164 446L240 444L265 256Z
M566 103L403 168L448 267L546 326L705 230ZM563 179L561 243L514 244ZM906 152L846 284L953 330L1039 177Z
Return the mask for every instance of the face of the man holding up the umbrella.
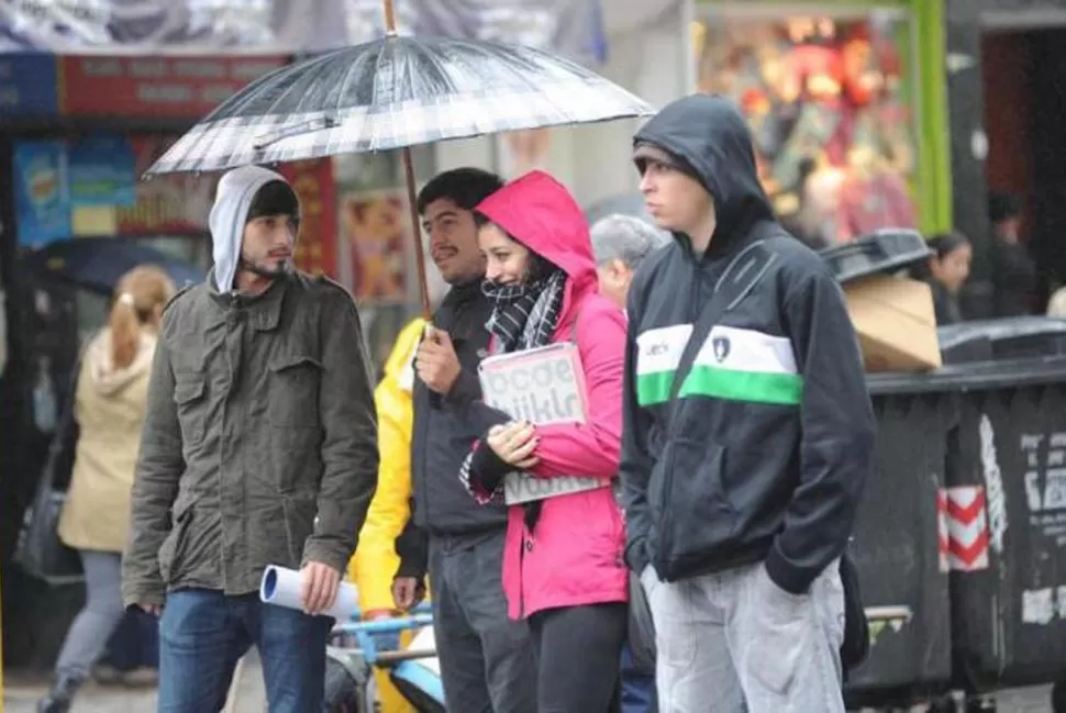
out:
M463 285L485 275L471 211L449 198L437 199L425 207L422 229L430 236L430 256L445 282Z

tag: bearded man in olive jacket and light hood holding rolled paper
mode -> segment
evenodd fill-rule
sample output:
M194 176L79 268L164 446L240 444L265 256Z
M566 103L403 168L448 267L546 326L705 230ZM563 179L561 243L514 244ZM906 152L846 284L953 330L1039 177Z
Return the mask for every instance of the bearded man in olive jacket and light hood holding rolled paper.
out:
M292 269L299 202L238 168L211 211L214 268L164 312L123 560L160 613L159 710L219 710L254 644L274 712L322 710L332 606L374 493L374 400L352 297ZM304 611L263 604L300 569Z

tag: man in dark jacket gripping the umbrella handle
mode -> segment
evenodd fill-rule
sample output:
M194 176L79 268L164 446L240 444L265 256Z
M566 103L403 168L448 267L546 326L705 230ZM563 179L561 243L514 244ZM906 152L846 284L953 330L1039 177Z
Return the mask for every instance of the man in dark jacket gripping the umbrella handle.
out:
M481 506L457 474L482 432L477 365L492 304L473 209L503 182L488 171L441 174L418 198L430 255L452 286L414 358L413 520L397 541L396 604L433 587L433 626L449 711L533 713L536 667L525 622L510 621L501 581L507 512Z

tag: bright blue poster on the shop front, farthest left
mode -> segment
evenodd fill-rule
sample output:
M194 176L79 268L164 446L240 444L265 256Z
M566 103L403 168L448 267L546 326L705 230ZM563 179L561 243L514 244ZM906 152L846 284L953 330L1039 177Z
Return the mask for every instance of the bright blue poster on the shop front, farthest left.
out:
M15 220L19 243L41 246L71 235L66 147L62 141L14 146Z

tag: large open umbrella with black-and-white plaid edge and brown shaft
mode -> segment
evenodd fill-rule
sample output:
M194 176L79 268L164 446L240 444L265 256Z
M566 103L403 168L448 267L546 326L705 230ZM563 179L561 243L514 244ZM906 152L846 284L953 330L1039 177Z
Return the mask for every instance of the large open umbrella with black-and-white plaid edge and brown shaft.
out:
M209 171L343 153L401 149L423 315L430 316L410 147L498 132L654 112L621 87L529 47L396 31L252 82L179 138L148 170Z

